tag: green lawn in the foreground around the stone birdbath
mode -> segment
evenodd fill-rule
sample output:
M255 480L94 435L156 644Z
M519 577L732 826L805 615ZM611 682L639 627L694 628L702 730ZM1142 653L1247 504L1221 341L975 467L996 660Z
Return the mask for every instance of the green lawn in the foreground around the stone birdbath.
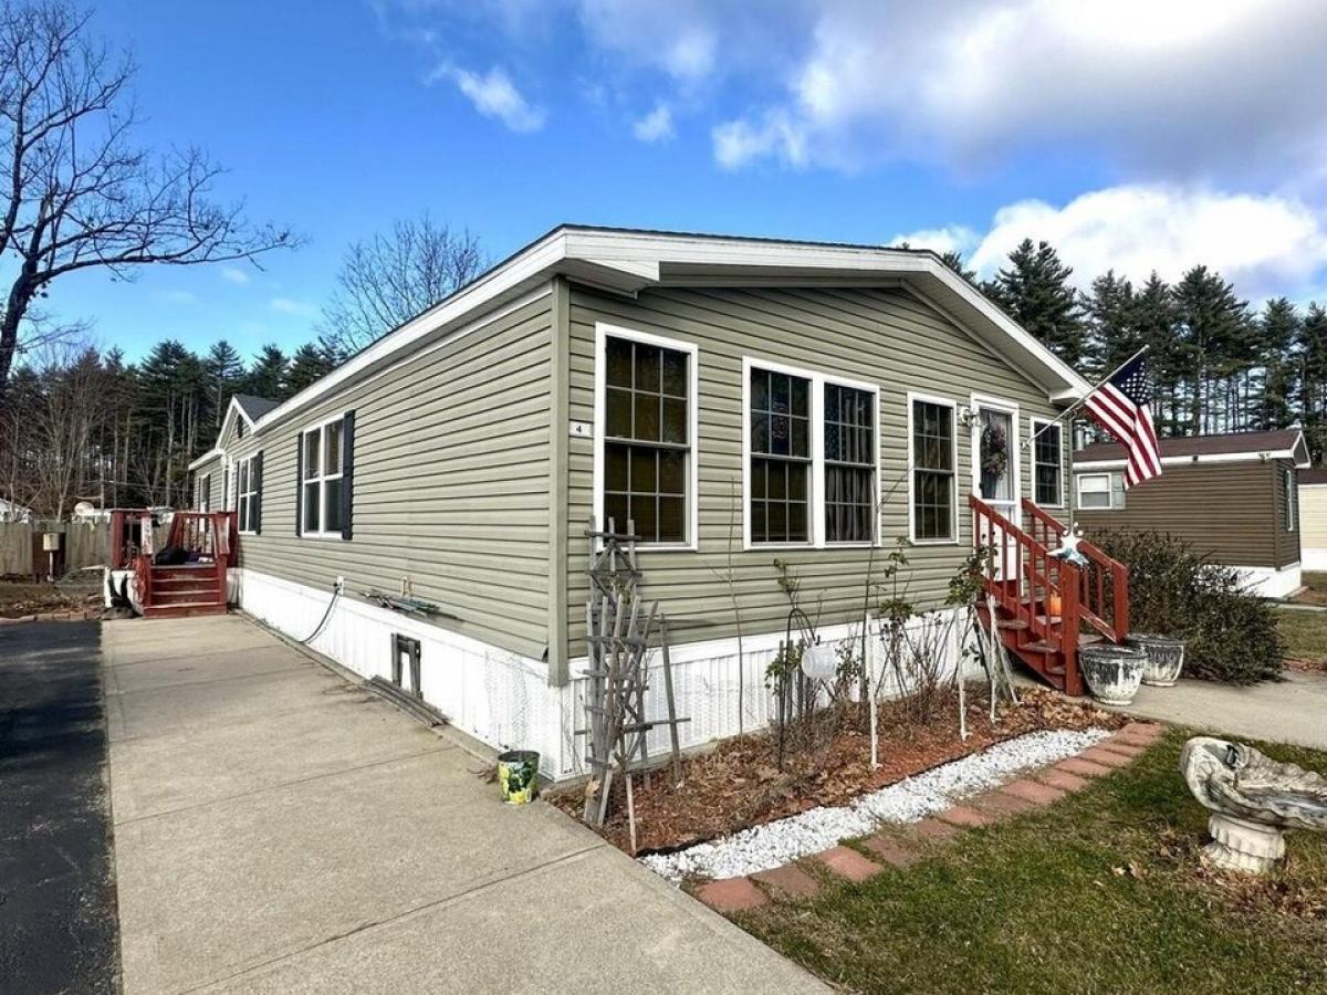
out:
M1182 742L905 870L735 918L848 991L1327 991L1327 836L1292 834L1261 884L1205 874ZM1267 752L1327 773L1327 754Z

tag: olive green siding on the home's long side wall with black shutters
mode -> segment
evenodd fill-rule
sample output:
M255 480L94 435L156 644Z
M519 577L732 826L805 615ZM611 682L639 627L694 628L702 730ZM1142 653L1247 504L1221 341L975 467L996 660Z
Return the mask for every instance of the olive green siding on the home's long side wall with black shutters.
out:
M478 320L478 316L476 316ZM539 659L548 642L551 309L544 295L492 324L259 432L232 460L263 451L261 535L240 565L330 593L376 588L459 621L439 625ZM300 537L296 439L356 413L354 537Z

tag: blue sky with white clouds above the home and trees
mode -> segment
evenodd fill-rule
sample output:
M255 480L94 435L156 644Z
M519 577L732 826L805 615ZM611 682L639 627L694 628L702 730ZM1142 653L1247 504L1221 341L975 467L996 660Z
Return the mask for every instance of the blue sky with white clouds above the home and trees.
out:
M1206 261L1327 287L1327 5L767 0L104 3L139 139L293 226L252 267L80 273L49 309L137 357L313 336L354 239L429 211L495 259L563 220L963 249L1080 275Z

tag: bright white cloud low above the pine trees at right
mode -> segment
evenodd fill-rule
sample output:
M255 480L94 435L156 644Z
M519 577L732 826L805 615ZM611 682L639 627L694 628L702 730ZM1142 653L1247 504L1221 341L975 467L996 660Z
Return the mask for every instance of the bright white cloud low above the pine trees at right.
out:
M999 208L985 233L951 226L898 235L892 244L957 248L990 276L1023 239L1051 243L1082 288L1107 269L1135 281L1154 269L1173 281L1202 263L1258 300L1295 296L1327 268L1327 224L1304 203L1169 184L1107 187L1063 207L1020 200Z

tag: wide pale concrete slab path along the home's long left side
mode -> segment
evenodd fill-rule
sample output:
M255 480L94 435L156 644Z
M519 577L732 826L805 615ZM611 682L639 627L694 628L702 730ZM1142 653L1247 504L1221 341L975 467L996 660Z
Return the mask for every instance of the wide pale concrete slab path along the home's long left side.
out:
M102 651L127 995L823 990L240 617Z

